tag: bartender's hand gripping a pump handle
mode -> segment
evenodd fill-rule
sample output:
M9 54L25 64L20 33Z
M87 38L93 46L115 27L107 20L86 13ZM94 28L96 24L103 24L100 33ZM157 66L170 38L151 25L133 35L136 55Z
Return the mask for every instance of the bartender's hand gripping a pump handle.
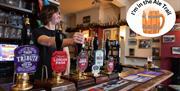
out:
M84 35L80 32L76 32L73 35L73 42L78 43L78 44L83 44L84 43Z

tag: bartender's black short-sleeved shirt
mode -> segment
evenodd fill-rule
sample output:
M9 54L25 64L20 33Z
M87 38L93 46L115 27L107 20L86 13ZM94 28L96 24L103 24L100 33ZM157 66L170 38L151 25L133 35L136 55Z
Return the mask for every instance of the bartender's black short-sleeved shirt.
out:
M35 79L41 79L43 65L47 66L48 78L52 77L53 71L51 68L51 56L52 56L52 53L56 50L56 48L41 45L37 42L37 39L41 35L46 35L48 37L55 37L55 34L56 34L55 30L49 30L45 27L41 27L41 28L33 30L33 38L34 38L33 40L34 40L35 45L39 48L39 56L40 56L40 60L37 65L37 70L35 72ZM62 35L63 35L63 38L65 38L65 35L63 33ZM45 77L45 71L44 71L44 77Z

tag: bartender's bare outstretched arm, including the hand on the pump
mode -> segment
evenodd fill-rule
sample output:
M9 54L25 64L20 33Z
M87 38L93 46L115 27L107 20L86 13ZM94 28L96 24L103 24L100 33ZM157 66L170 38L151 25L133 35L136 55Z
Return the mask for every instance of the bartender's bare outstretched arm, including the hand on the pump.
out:
M46 35L41 35L38 37L37 39L38 43L44 46L55 46L56 42L55 42L55 37L49 37ZM63 39L63 43L62 46L70 46L70 45L74 45L76 43L79 44L83 44L84 43L84 37L82 33L76 32L73 35L73 38L65 38Z

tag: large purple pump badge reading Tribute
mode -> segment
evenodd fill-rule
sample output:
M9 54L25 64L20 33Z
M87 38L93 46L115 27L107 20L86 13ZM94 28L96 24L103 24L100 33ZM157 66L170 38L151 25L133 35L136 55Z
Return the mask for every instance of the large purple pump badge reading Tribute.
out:
M33 73L39 61L39 50L32 45L24 45L15 49L16 73Z

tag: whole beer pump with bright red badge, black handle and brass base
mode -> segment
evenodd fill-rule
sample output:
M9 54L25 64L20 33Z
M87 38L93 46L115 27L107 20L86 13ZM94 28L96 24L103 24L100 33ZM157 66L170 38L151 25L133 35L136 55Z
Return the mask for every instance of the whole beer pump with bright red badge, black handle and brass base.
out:
M54 75L51 82L53 84L59 84L64 82L64 80L61 79L61 75L63 72L65 72L68 62L67 54L65 51L63 51L62 48L63 34L61 30L62 30L62 25L60 25L60 28L56 26L55 29L56 51L53 52L51 58L51 66Z

